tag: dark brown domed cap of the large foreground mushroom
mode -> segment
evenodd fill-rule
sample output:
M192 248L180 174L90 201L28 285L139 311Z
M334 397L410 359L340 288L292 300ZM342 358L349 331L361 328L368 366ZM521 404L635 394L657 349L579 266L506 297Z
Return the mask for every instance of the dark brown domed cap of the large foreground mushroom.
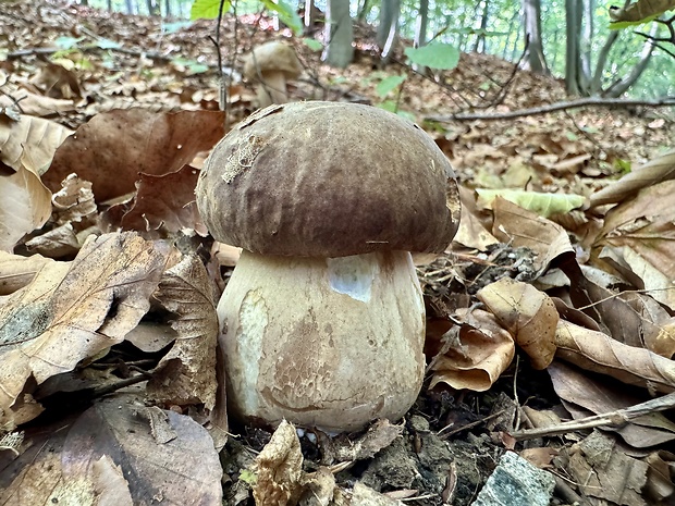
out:
M213 148L196 198L217 240L262 255L441 252L459 222L454 173L435 143L354 103L257 111Z

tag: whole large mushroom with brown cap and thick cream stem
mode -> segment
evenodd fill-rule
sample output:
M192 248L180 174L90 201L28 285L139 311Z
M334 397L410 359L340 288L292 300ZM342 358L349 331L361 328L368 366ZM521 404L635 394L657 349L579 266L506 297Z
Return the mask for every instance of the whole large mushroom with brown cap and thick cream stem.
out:
M400 419L425 372L410 251L443 251L459 218L433 140L368 106L272 106L216 146L196 198L243 248L218 304L230 414L331 433Z

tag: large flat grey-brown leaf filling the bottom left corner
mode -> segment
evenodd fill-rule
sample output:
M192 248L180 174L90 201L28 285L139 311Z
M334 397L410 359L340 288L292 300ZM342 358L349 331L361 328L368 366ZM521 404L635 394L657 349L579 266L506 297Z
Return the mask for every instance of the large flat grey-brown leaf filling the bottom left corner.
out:
M0 489L0 503L95 506L101 504L100 490L110 501L108 503L114 505L130 496L127 504L137 505L160 497L176 505L186 497L192 504L221 504L222 468L208 432L189 417L162 411L176 436L158 444L140 409L133 396L116 395L74 422L28 434L26 452L4 469L10 482Z

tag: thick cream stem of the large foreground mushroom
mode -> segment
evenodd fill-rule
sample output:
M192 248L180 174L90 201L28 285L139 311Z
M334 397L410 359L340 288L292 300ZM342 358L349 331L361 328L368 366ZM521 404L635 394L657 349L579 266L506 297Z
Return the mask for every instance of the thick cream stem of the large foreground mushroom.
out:
M395 420L425 372L425 306L410 255L243 251L218 305L230 412L329 432Z

